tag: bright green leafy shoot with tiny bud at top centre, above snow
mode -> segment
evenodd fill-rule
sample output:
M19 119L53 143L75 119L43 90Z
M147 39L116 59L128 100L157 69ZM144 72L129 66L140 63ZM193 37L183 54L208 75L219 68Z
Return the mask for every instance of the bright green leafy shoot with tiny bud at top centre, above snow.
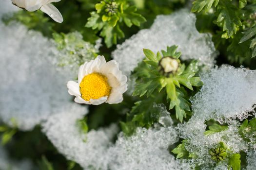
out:
M104 0L95 5L96 11L91 12L86 27L100 31L104 42L110 48L117 40L124 38L122 27L126 25L140 26L146 19L136 13L137 7L130 6L127 1Z

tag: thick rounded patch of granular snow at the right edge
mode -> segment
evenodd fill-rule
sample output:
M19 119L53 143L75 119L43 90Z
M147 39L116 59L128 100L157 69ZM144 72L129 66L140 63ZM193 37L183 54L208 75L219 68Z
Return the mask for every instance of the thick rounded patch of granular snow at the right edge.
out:
M201 77L204 85L192 99L192 109L203 119L245 119L256 104L256 71L222 66Z

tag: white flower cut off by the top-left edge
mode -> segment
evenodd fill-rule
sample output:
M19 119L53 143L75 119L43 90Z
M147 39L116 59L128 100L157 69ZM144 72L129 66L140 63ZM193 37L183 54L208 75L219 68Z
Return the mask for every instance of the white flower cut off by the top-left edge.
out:
M60 0L12 0L13 4L26 9L30 12L41 10L46 13L48 16L53 18L56 22L63 22L62 15L59 10L52 5L52 2L59 2Z

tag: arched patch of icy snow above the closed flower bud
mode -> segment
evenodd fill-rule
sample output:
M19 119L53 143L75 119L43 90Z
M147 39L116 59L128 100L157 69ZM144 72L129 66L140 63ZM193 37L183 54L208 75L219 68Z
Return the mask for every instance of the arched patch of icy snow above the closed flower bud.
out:
M117 46L112 55L124 74L129 75L145 57L142 49L154 52L178 45L181 59L198 59L201 65L213 67L216 50L210 34L198 33L196 16L180 10L168 16L158 16L150 29L144 29Z

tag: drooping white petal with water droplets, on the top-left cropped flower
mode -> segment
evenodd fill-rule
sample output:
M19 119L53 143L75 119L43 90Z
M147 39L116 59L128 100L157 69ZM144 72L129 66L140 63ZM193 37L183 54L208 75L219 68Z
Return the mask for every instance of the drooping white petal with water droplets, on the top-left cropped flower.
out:
M43 5L40 10L44 13L46 13L48 16L53 18L56 22L63 22L63 17L60 14L59 10L52 4L48 3Z

